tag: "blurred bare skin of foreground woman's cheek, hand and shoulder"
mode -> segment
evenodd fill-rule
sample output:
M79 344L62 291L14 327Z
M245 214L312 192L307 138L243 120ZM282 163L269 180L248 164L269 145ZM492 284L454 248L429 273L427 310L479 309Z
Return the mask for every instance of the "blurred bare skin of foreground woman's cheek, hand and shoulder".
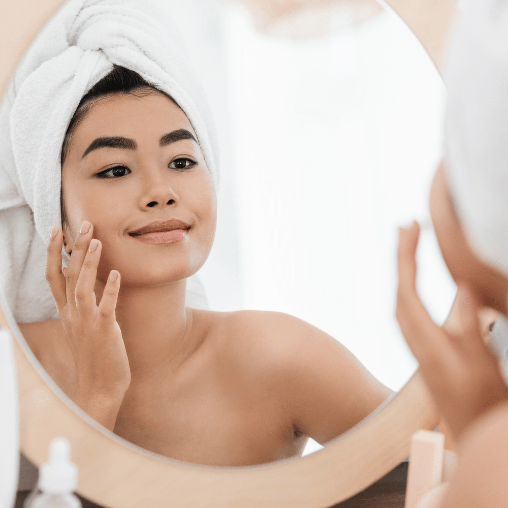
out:
M443 259L459 286L458 312L448 330L440 328L418 297L415 223L400 230L397 319L458 444L458 467L440 506L507 506L508 388L484 343L478 311L490 306L506 316L508 281L469 247L443 163L432 184L430 211Z

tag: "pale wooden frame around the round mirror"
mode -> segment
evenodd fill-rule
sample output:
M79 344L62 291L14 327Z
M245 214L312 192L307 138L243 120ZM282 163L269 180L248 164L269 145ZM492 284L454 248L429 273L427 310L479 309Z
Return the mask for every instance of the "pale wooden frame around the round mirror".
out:
M0 91L30 41L62 4L62 0L2 2ZM387 0L383 5L407 24L440 71L457 11L453 0ZM166 459L104 429L68 399L38 364L0 297L0 324L16 339L21 450L40 465L49 441L67 437L72 460L79 466L78 492L110 508L325 508L393 469L409 455L410 436L437 425L438 414L417 372L361 424L303 458L248 467Z

